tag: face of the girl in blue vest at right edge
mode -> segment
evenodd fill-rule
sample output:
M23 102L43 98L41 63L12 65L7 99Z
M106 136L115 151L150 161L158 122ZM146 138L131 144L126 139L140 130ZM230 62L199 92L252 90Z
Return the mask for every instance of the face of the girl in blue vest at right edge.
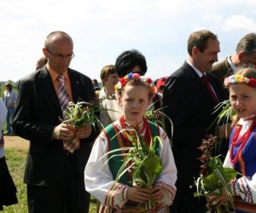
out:
M230 103L239 118L256 114L256 89L246 84L230 86Z

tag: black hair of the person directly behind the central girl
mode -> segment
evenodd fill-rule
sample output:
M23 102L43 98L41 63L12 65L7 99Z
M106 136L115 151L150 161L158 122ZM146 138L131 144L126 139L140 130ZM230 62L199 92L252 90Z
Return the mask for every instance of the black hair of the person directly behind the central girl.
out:
M116 59L115 72L121 78L131 72L135 66L140 66L141 75L145 75L148 70L147 61L142 53L137 49L127 50Z

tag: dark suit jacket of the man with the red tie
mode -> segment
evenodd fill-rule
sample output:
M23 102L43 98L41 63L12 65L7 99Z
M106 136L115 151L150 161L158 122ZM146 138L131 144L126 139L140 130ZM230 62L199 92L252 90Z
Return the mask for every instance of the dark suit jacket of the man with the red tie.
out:
M222 101L218 79L207 73L212 88L218 100ZM177 181L184 185L192 185L193 177L199 176L201 151L196 149L201 145L207 131L216 115L216 106L206 84L194 69L185 61L166 81L163 94L163 107L166 115L173 123L173 154L177 164ZM171 138L171 125L166 119L167 135ZM178 188L177 188L178 189Z

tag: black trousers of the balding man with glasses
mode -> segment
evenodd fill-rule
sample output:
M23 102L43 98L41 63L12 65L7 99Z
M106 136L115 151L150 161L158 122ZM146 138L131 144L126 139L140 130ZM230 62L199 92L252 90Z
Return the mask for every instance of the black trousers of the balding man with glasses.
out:
M27 185L29 213L87 213L90 194L84 189L84 182L58 187Z

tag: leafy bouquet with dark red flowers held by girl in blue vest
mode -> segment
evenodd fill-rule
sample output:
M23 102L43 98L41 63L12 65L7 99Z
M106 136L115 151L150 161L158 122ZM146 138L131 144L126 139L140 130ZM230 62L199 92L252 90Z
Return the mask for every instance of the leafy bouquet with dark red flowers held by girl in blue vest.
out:
M217 142L217 137L210 136L208 140L203 140L201 147L198 147L201 152L201 172L200 177L195 180L197 191L195 197L209 197L212 194L220 195L222 190L226 190L230 198L231 207L234 208L234 202L228 184L236 178L236 171L231 168L224 168L221 160L217 157L212 157L212 150ZM225 212L228 210L228 204L222 207L209 206L210 209L215 209L217 212ZM235 208L234 208L235 209ZM227 211L229 212L229 211Z

